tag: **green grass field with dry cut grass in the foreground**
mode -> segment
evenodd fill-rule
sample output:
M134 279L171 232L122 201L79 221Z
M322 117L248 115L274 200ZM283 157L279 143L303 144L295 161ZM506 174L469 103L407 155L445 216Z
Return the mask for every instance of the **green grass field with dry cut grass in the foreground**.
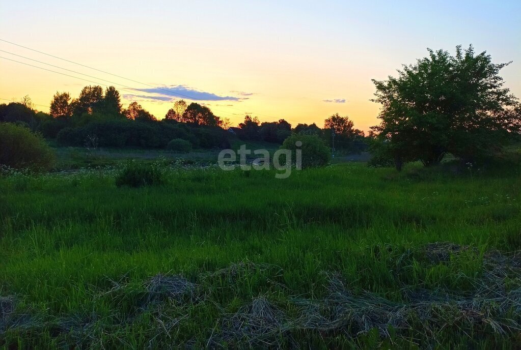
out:
M0 348L521 346L519 167L0 177Z

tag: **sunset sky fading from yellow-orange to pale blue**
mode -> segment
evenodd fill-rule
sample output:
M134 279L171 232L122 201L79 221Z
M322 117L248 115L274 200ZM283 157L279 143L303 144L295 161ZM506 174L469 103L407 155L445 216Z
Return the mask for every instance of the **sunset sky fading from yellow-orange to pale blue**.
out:
M103 72L0 41L0 102L29 95L48 111L57 91L114 85L124 106L138 101L159 119L183 98L235 125L248 113L322 127L339 113L368 131L379 111L371 79L396 75L427 48L473 44L513 61L501 75L521 97L519 16L514 0L2 0L0 39Z

